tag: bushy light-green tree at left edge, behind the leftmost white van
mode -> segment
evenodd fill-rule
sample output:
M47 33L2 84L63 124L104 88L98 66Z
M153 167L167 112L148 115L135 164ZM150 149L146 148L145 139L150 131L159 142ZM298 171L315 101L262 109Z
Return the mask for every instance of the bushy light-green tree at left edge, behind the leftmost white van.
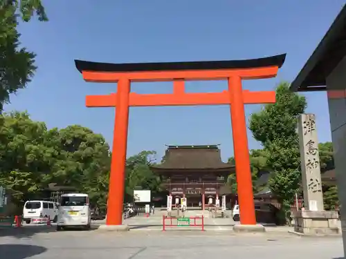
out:
M0 185L10 189L21 204L42 189L42 178L50 173L52 151L45 146L47 128L28 113L3 115L0 128Z

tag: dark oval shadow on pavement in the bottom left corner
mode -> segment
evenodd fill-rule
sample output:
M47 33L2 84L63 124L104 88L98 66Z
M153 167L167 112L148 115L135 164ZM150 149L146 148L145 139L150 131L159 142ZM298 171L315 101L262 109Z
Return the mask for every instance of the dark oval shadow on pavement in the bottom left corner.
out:
M28 244L0 244L0 255L6 259L24 259L47 251L45 247Z

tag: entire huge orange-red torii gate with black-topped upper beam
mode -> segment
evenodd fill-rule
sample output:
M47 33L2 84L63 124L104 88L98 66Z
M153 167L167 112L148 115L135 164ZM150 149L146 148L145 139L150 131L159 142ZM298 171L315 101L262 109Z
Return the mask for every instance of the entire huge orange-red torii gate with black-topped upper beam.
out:
M286 54L262 59L170 63L109 64L75 60L85 81L118 83L117 93L86 96L87 107L116 107L107 205L107 225L122 224L125 161L130 106L193 106L230 104L241 224L256 224L244 104L275 103L274 91L242 90L242 79L277 75ZM185 93L190 80L228 80L221 93ZM173 81L171 94L130 93L131 81Z

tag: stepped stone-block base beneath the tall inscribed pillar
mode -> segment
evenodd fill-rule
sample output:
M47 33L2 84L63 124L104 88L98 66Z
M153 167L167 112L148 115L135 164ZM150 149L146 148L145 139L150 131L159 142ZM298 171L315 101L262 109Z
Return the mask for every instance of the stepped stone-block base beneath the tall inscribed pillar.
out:
M293 211L294 231L311 236L335 235L338 211Z

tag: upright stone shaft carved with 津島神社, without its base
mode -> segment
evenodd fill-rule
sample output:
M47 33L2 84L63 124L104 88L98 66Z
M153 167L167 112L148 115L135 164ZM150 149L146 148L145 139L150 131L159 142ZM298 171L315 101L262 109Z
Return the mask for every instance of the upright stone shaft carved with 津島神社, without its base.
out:
M316 117L302 114L298 120L304 207L309 211L323 211L323 194Z

